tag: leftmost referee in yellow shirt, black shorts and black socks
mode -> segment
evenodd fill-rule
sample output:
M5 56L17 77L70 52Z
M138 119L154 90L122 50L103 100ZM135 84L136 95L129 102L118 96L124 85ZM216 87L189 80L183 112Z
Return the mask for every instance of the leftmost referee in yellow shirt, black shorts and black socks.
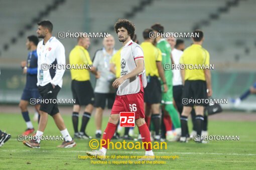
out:
M90 39L88 37L77 38L77 45L69 54L69 63L71 65L91 65L92 61L87 51L89 45ZM75 99L72 113L72 122L75 132L74 138L91 138L91 136L85 132L94 104L94 93L90 82L89 71L97 74L93 69L70 69L72 78L71 88L73 98ZM82 116L81 128L80 131L78 131L78 118L81 106L85 106L85 109Z

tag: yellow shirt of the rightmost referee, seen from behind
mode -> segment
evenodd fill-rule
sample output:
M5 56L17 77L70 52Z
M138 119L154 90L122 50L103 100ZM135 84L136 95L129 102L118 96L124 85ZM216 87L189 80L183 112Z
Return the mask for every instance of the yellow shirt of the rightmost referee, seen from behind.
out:
M184 50L180 63L209 66L209 52L199 44L192 44ZM203 69L188 69L188 66L185 68L185 80L205 80Z

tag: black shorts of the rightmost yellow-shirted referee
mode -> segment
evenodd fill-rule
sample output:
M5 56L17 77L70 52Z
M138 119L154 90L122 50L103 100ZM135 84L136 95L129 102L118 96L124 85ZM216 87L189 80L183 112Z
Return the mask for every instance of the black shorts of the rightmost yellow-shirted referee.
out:
M183 87L182 102L184 106L202 105L207 106L208 104L203 102L207 99L207 85L204 80L185 80ZM197 102L186 102L189 99L193 99ZM198 100L199 99L199 100Z

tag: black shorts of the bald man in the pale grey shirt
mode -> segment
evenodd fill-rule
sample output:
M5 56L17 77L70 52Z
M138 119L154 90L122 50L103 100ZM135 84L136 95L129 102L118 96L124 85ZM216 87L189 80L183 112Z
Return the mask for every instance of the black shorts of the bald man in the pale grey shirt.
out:
M95 95L95 102L94 102L95 107L101 107L102 109L104 109L107 101L107 108L109 109L112 108L114 104L115 93L95 92L94 95Z

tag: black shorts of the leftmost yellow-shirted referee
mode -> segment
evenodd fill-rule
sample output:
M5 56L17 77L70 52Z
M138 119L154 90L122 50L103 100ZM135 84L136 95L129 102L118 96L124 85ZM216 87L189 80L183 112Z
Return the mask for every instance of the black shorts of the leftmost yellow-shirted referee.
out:
M88 105L94 103L94 93L89 80L77 81L73 79L71 89L75 104Z

